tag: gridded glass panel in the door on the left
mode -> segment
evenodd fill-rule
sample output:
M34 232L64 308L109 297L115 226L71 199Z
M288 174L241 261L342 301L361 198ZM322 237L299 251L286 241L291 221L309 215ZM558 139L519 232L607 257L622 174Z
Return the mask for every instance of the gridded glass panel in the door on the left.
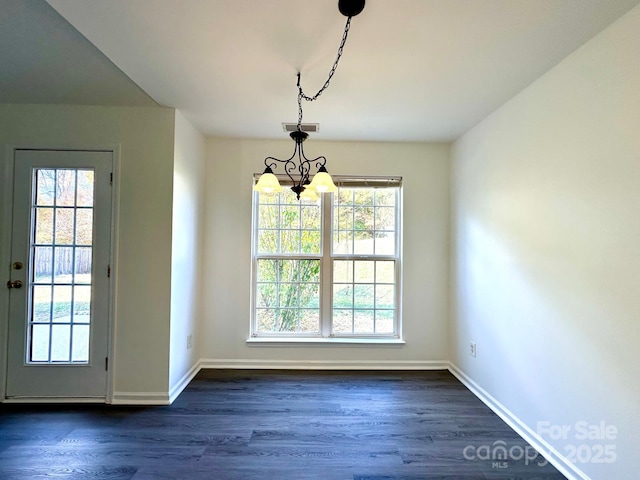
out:
M28 363L89 362L93 180L89 169L34 172Z

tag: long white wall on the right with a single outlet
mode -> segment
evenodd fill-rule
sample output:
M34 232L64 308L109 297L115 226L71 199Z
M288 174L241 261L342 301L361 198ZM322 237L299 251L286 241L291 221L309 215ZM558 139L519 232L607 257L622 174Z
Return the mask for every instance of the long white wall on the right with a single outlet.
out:
M560 453L614 445L594 479L640 471L638 32L640 7L453 148L452 360L533 431L569 425L541 435Z

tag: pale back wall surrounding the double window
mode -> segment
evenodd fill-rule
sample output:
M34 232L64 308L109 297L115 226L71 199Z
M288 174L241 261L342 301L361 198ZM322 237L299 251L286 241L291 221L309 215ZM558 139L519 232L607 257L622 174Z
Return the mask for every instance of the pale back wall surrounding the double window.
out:
M254 173L268 155L287 157L293 142L209 139L203 273L202 356L210 365L309 365L357 362L419 365L446 361L448 316L449 147L439 144L319 142L341 175L404 177L404 300L402 347L248 346L251 270L251 197ZM284 362L284 363L283 363ZM362 365L359 363L358 365Z

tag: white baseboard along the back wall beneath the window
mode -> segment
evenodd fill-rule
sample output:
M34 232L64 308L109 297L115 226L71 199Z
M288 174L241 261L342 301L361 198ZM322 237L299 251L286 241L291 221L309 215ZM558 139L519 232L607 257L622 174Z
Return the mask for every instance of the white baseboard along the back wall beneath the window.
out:
M447 370L449 362L384 360L253 360L203 358L200 368L269 370Z

